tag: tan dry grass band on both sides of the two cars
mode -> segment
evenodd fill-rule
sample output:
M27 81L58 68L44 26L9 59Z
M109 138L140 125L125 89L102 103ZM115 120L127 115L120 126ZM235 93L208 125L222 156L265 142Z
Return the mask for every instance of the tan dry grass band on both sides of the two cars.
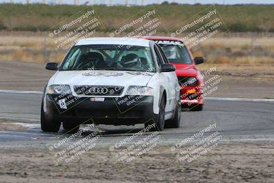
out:
M49 38L42 36L0 36L0 60L20 62L61 62L66 51L56 50ZM46 55L45 55L46 53ZM210 38L193 56L203 56L203 65L273 66L274 38Z

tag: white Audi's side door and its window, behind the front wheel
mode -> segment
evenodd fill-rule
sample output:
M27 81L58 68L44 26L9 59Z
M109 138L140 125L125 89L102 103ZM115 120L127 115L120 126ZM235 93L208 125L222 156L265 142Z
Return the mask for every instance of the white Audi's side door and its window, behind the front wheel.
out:
M162 49L159 45L155 44L154 51L156 56L160 59L160 64L169 64L169 61L163 55ZM162 53L161 53L162 51ZM174 85L174 74L175 72L161 72L163 85L166 88L166 112L172 112L175 106L175 85ZM177 77L176 77L177 78Z

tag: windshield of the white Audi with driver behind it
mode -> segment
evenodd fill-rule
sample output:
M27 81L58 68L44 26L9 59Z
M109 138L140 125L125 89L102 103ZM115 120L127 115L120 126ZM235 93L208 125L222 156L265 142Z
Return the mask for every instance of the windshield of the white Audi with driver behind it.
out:
M69 51L61 71L112 70L155 72L149 47L82 45Z

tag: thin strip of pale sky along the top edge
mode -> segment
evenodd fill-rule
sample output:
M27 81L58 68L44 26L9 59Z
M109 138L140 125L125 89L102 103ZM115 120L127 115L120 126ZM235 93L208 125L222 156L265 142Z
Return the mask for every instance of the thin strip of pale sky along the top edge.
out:
M13 1L14 3L25 3L26 0L0 0L1 3L9 3L10 1ZM63 3L74 3L74 0L46 0L48 3L58 3L58 1L62 1ZM149 3L162 3L163 1L169 1L169 2L177 2L177 3L219 3L219 4L236 4L236 3L262 3L262 4L271 4L274 3L274 0L78 0L79 4L85 3L88 1L90 4L92 3L103 3L103 4L109 4L110 1L112 4L125 4L125 1L129 4L141 4L142 1L144 4ZM29 0L30 3L39 3L42 2L42 0Z

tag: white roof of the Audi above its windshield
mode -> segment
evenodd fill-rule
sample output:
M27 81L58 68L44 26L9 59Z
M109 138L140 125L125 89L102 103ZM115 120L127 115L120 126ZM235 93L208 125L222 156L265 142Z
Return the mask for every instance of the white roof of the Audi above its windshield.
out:
M151 40L142 38L86 38L78 40L78 45L132 45L140 47L149 47Z

